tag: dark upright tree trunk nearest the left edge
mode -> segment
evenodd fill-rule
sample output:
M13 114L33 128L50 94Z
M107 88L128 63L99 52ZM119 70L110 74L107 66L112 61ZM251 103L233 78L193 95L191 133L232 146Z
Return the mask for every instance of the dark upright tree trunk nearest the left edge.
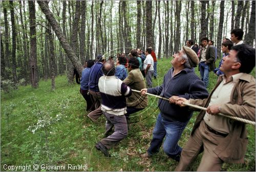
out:
M3 2L4 3L4 2ZM7 20L7 10L6 10L6 4L3 4L4 8L4 22L5 22L5 64L7 67L10 67L9 58L10 58L10 51L9 51L9 26L8 26L8 20ZM8 75L7 75L8 77Z

